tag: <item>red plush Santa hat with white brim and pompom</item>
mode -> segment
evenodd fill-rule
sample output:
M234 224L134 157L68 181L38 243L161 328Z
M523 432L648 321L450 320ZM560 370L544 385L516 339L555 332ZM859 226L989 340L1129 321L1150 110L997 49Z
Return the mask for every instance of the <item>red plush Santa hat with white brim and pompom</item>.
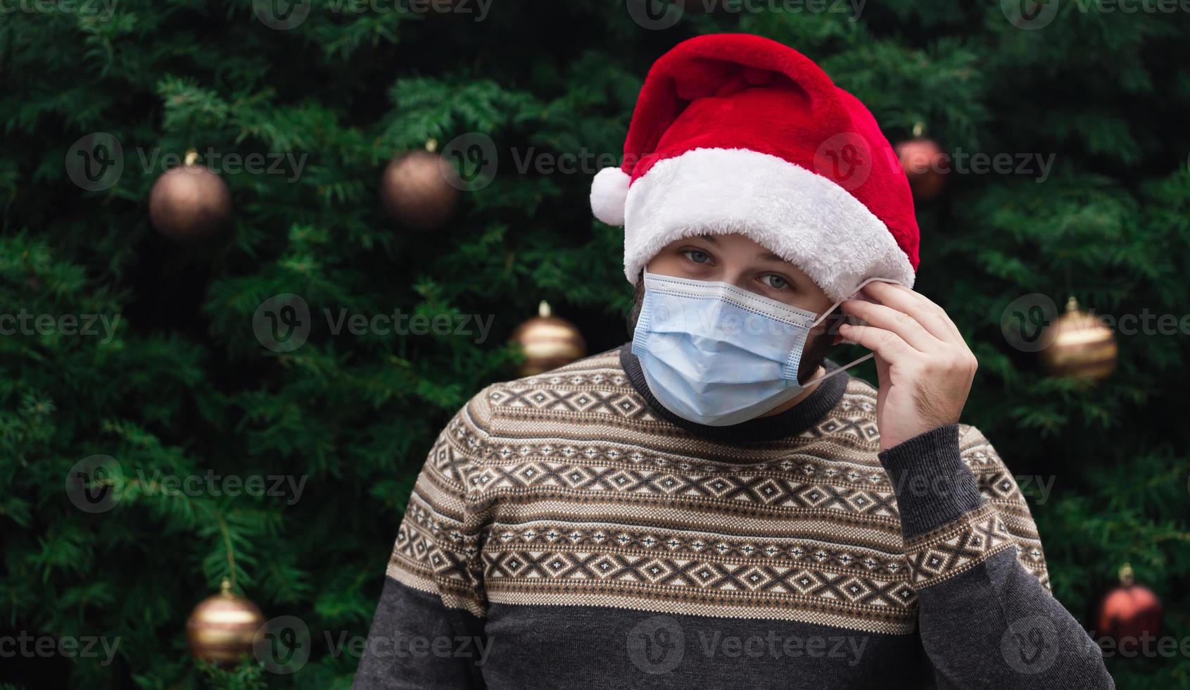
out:
M909 184L872 114L813 61L746 33L684 40L653 63L624 163L591 183L622 225L635 283L663 246L737 232L795 264L832 300L864 280L913 287Z

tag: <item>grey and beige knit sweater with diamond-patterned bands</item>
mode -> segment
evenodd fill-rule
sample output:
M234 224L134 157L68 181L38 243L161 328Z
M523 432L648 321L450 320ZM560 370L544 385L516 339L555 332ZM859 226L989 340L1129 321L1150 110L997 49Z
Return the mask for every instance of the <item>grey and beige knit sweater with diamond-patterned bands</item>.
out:
M846 374L728 427L662 407L627 345L488 385L387 576L356 690L1114 688L983 434L879 452Z

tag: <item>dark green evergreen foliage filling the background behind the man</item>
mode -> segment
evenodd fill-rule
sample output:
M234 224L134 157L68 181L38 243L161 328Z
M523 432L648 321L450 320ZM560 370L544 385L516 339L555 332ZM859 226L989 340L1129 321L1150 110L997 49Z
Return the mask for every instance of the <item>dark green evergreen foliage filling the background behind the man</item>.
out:
M1185 13L1063 0L1038 31L996 2L953 0L872 0L858 21L720 8L664 31L614 1L502 1L475 17L336 13L322 0L290 31L264 26L249 0L123 0L109 19L0 14L0 312L121 316L108 343L0 337L0 633L120 638L109 666L5 659L6 686L346 688L357 659L331 653L327 635L367 633L413 477L451 413L514 377L512 328L547 299L591 352L626 339L620 230L588 207L594 158L620 152L651 61L713 31L806 52L891 140L921 120L950 151L1054 155L1044 182L1035 170L952 175L945 196L919 205L917 286L979 357L964 421L1017 475L1053 478L1047 500L1031 496L1060 600L1088 620L1128 560L1164 600L1166 634L1190 635L1190 335L1120 334L1116 372L1086 387L1044 376L1000 331L1008 303L1031 293L1059 305L1072 293L1113 315L1190 313ZM125 152L102 192L63 165L90 132ZM466 132L495 140L494 181L440 231L396 227L376 197L384 163ZM150 226L161 169L140 161L192 146L308 159L295 181L224 174L232 232L192 251ZM520 172L516 157L536 153L585 169ZM252 331L280 293L315 314L309 341L288 353ZM495 320L481 344L333 335L322 309L342 308ZM95 453L125 475L102 514L63 490ZM170 496L140 479L207 469L307 482L288 504ZM265 615L309 626L299 672L189 657L187 615L231 569ZM1108 663L1121 688L1190 688L1184 656Z

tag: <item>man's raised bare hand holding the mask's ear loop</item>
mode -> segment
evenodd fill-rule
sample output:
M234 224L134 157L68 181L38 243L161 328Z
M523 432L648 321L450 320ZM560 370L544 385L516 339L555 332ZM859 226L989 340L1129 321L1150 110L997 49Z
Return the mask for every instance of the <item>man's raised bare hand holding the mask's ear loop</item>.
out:
M946 312L904 286L872 282L863 293L878 305L846 300L843 310L866 326L839 334L876 353L881 450L959 421L979 363Z

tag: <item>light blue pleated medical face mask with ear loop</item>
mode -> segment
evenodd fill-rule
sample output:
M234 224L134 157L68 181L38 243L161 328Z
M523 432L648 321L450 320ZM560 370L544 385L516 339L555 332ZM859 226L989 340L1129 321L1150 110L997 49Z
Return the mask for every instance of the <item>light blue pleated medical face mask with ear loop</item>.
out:
M882 278L869 278L859 288L873 280ZM632 353L649 390L683 419L739 424L872 357L868 353L801 384L797 369L806 339L839 302L819 316L731 283L649 271L644 281Z

